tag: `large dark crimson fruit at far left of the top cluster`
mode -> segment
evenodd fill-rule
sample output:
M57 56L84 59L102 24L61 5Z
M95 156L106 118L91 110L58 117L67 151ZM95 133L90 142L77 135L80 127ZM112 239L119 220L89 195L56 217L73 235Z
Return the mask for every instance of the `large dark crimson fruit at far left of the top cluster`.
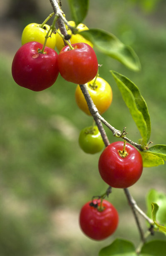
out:
M20 47L12 61L12 77L15 82L32 91L42 91L55 83L59 74L57 52L42 44L29 42Z

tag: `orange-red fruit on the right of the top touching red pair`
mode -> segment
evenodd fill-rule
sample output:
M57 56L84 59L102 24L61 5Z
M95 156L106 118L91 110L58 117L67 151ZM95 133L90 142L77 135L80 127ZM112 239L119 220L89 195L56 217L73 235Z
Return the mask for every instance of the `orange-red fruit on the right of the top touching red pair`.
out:
M97 74L97 56L91 46L85 43L72 44L73 50L65 46L58 55L61 76L75 84L85 84Z

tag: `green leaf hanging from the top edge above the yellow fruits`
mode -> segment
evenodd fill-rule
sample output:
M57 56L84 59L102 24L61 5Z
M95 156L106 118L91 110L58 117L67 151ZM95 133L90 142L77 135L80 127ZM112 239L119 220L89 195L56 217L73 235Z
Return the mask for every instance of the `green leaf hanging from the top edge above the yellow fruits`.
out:
M76 26L82 23L82 20L87 15L89 8L89 0L68 0L72 19L75 21Z

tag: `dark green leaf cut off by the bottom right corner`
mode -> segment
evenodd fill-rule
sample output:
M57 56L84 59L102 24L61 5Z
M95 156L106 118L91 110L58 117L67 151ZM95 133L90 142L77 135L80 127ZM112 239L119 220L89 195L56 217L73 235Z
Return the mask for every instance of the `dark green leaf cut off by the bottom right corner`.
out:
M139 256L165 256L166 241L153 240L142 246Z

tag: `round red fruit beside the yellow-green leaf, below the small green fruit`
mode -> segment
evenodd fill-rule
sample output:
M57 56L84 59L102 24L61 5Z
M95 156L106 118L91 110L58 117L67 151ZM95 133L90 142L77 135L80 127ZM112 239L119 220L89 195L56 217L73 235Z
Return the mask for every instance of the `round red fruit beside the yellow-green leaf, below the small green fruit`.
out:
M119 154L119 151L123 151L123 146L123 141L111 143L99 158L99 173L111 187L130 187L137 182L142 174L143 163L139 151L126 143L127 155L123 158Z

